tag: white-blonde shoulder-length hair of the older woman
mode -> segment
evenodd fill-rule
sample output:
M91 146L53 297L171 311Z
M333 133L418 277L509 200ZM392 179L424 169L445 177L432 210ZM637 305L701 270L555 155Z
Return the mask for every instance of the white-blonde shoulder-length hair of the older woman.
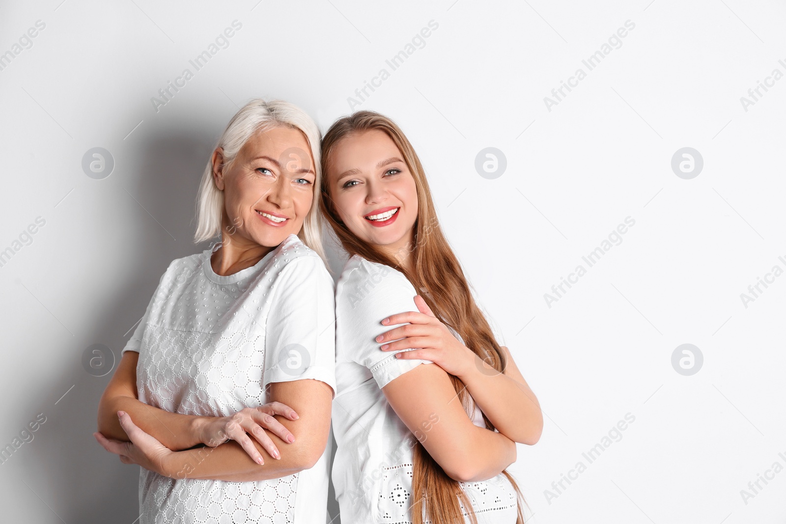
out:
M321 162L319 144L321 133L314 119L294 104L282 100L265 101L262 98L245 104L230 120L215 148L223 149L224 167L233 163L241 148L260 131L276 127L297 129L306 136L311 156L314 159L314 200L303 220L303 244L325 260L321 242L321 214L319 211L321 187ZM215 148L213 150L215 151ZM199 193L196 196L196 233L194 243L211 240L221 234L221 218L224 212L224 192L216 187L213 179L212 152L208 165L204 168Z

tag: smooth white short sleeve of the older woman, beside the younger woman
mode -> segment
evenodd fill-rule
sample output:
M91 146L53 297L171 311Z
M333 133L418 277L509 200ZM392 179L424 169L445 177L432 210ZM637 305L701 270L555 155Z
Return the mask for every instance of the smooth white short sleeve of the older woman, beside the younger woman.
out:
M318 256L281 270L266 320L263 388L316 379L336 397L336 309L333 279Z

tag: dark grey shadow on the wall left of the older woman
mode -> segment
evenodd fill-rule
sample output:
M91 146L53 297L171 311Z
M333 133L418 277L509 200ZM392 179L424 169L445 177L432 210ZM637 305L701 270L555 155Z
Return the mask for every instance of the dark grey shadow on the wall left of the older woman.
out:
M119 173L126 178L124 189L141 204L132 202L138 207L138 225L129 228L137 230L137 236L130 240L134 245L128 250L134 253L134 263L128 265L132 268L129 273L119 276L127 283L124 292L117 296L116 306L95 312L91 336L112 348L115 369L120 351L133 333L131 326L145 313L169 263L208 247L208 243L193 243L195 202L216 137L207 132L197 134L194 129L211 128L206 124L149 134L138 152L130 152L127 164L133 171ZM46 459L42 457L42 462L52 464L47 469L61 476L51 482L63 488L58 489L64 499L61 507L72 510L61 515L65 522L130 524L139 516L139 467L122 464L118 456L101 448L92 435L97 429L98 401L114 369L106 376L94 377L81 368L79 361L76 366L74 376L79 378L71 392L74 397L64 398L71 407L58 416L60 427L50 433L57 435L59 444L53 441L46 446L53 453ZM68 453L61 453L60 449L68 449ZM75 500L80 504L74 504Z

